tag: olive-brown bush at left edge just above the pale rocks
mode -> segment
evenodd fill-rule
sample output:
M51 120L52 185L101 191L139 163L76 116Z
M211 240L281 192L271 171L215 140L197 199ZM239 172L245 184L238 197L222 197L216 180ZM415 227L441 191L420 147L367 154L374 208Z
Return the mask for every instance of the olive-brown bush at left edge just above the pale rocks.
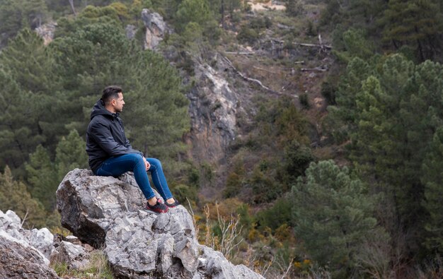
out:
M23 227L43 227L45 210L33 199L26 185L13 179L11 169L5 167L0 173L0 210L13 210L23 221Z

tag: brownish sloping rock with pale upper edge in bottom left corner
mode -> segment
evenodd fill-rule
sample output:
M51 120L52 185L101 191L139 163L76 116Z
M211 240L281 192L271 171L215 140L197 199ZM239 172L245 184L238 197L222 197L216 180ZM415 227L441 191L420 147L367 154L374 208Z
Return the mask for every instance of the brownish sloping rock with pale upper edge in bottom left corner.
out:
M1 278L59 278L47 259L27 242L0 230Z

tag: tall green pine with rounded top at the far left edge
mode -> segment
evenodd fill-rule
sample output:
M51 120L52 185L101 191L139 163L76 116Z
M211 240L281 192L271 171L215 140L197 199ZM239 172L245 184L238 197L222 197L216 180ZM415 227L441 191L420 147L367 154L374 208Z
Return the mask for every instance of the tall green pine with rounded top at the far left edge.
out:
M0 165L17 170L40 143L54 143L51 105L57 88L52 54L35 32L22 30L0 54L3 112L0 116Z

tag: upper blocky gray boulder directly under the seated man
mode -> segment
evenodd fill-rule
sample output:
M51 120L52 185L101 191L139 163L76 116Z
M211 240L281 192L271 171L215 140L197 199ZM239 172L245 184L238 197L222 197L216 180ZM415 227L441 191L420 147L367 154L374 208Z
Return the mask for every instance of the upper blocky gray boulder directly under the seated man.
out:
M138 188L87 170L69 172L57 189L62 226L97 249L105 244L111 222L142 208L143 201Z

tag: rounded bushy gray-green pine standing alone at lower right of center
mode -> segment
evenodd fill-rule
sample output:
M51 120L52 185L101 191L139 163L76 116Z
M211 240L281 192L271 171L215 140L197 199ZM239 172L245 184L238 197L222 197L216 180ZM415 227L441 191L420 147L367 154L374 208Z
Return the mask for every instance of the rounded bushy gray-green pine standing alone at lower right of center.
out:
M347 278L359 266L362 245L384 234L376 233L374 197L353 178L347 167L332 160L311 163L306 179L292 187L292 222L297 238L321 265Z

